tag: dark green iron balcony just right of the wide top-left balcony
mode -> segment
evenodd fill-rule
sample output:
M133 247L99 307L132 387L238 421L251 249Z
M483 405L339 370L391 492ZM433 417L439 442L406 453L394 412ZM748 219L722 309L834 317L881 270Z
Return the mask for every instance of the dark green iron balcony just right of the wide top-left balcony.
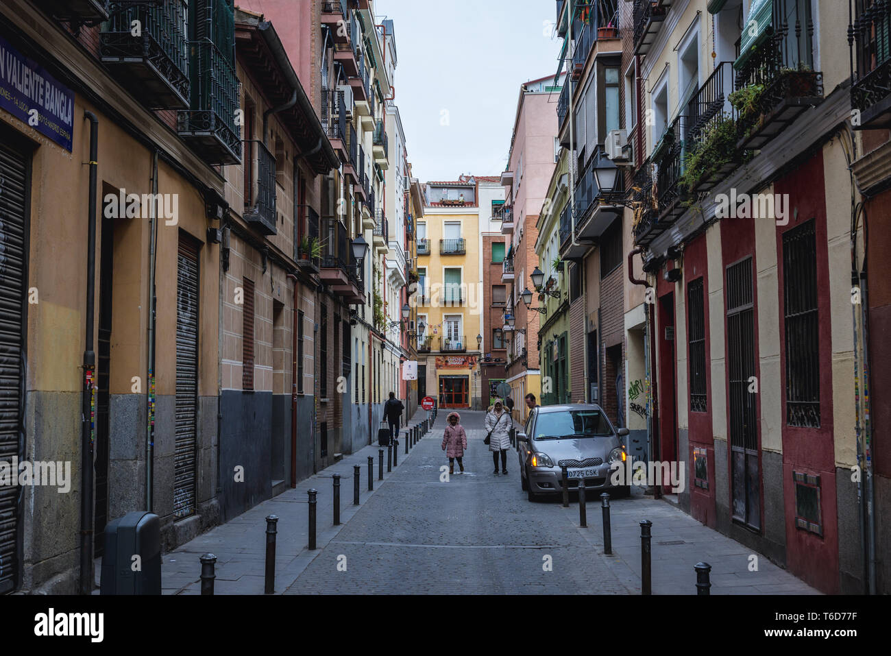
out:
M217 45L192 43L192 109L176 113L176 131L208 164L238 164L241 138L235 69Z

